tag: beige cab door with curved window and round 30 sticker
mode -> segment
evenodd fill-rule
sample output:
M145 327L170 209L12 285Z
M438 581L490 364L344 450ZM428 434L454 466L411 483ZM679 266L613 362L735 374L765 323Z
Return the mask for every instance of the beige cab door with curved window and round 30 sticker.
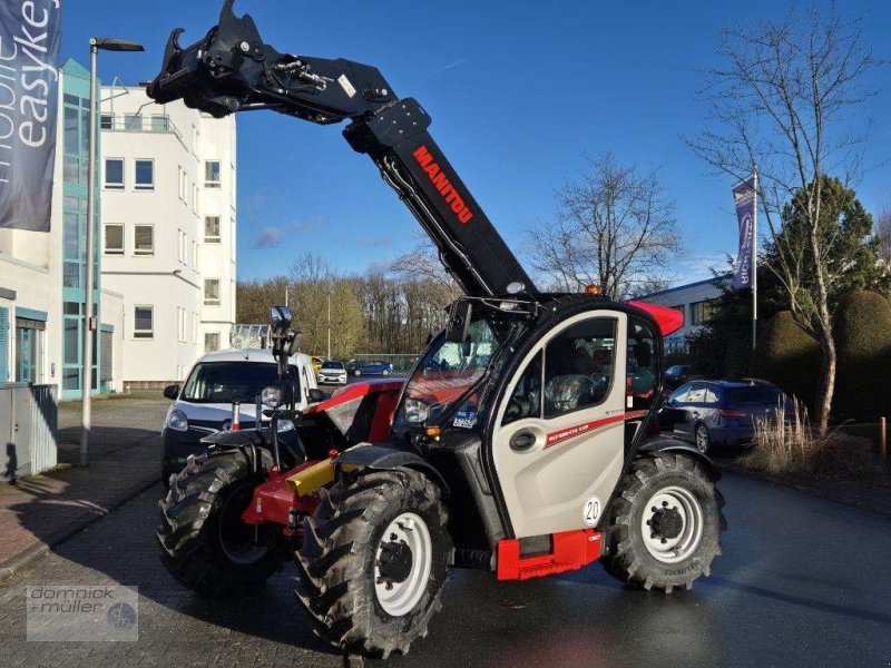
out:
M560 323L501 397L492 454L517 538L599 522L624 463L627 327L618 311Z

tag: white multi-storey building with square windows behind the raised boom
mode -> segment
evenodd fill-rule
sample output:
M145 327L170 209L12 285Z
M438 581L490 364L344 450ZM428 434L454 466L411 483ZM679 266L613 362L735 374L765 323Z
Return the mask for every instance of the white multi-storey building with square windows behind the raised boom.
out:
M124 385L182 381L235 322L235 120L101 91L101 274L124 295Z

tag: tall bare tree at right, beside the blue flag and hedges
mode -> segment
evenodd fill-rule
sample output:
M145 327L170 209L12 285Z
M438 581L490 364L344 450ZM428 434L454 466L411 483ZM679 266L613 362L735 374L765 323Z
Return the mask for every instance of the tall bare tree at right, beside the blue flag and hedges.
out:
M877 91L865 75L878 65L864 47L860 21L832 7L792 10L774 23L740 21L726 29L719 57L706 72L704 97L714 127L691 147L718 173L746 178L754 166L767 229L777 247L768 268L782 283L795 321L822 350L817 426L826 433L835 386L835 338L829 308L832 239L820 234L821 189L826 175L849 185L861 171L869 124L853 129L862 104ZM783 207L804 195L802 216L809 253L784 240Z

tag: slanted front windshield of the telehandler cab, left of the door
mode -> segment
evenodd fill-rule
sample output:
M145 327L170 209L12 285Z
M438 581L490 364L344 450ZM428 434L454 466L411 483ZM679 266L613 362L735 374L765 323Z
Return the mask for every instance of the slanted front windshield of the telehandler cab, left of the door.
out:
M473 318L463 344L440 335L405 384L393 428L405 429L439 418L480 381L506 336L507 328L497 326L486 314Z

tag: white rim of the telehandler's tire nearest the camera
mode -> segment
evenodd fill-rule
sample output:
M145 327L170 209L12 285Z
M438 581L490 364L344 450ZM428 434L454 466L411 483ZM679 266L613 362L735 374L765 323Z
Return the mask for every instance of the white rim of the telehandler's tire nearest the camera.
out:
M430 531L419 515L403 512L388 524L374 556L374 591L388 615L401 617L421 600L432 553Z

